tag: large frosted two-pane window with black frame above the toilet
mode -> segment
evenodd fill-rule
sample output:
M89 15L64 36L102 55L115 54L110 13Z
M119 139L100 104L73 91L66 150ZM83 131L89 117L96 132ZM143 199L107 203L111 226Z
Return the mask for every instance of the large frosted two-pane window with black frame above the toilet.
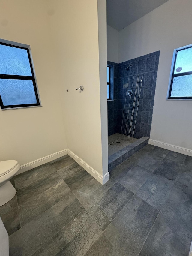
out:
M1 109L40 106L29 48L11 43L0 42Z

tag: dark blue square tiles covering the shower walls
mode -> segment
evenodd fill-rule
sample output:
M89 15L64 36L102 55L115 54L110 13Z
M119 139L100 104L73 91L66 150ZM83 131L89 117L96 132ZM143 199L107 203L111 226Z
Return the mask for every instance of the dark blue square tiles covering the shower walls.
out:
M135 138L150 137L157 71L160 51L149 53L119 64L107 62L113 69L113 101L108 101L108 136L121 132L123 110L125 105L126 88L130 75L143 74L143 83L140 94ZM125 70L133 64L130 70ZM118 68L117 68L118 67ZM113 103L111 103L113 102ZM113 110L113 111L112 111ZM110 120L109 120L110 119Z

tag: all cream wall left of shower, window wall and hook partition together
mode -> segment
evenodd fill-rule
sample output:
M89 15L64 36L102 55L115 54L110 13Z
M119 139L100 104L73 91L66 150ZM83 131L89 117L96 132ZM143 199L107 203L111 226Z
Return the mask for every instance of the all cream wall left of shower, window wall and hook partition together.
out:
M0 38L31 46L43 106L0 111L0 161L68 148L107 173L106 1L3 0L0 17Z

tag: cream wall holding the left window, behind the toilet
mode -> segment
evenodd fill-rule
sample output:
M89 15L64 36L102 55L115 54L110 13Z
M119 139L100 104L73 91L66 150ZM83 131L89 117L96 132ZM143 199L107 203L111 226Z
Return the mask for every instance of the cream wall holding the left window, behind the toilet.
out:
M0 161L22 164L67 148L61 83L44 1L2 0L0 38L29 44L43 107L0 110Z

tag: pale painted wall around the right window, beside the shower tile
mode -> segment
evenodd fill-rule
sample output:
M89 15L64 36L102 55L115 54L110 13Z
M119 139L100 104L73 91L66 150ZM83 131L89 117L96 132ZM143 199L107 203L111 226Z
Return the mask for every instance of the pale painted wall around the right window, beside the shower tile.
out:
M119 32L119 62L161 50L150 138L192 149L192 101L166 101L173 50L192 44L192 1L169 0Z

